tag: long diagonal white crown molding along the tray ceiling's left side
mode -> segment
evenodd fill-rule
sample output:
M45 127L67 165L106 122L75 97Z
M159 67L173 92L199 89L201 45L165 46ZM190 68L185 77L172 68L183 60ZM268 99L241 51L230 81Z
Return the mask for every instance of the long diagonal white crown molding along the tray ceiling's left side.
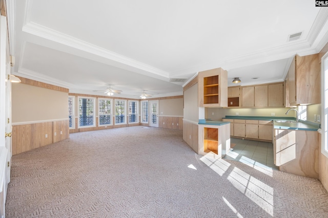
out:
M64 33L55 31L53 29L35 24L33 22L28 22L23 26L23 32L42 37L62 45L72 47L81 51L85 51L100 57L104 57L110 59L112 61L116 61L121 64L126 64L128 66L150 72L152 74L169 78L169 73L166 71L162 71L160 69L154 68L148 64L142 63L140 61L119 55L117 53L111 52L104 48L100 48L98 46L92 45L86 41L74 38L72 36L66 35Z

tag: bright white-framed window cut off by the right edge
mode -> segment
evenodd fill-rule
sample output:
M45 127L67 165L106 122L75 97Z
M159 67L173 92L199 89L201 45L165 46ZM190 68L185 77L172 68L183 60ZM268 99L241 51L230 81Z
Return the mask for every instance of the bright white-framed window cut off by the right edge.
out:
M321 63L321 152L328 158L328 53Z

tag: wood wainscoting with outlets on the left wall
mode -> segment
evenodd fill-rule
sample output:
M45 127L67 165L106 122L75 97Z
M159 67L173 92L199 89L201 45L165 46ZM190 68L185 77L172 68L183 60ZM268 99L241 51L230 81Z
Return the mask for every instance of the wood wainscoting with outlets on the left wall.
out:
M68 119L40 123L13 124L12 155L17 155L68 138Z

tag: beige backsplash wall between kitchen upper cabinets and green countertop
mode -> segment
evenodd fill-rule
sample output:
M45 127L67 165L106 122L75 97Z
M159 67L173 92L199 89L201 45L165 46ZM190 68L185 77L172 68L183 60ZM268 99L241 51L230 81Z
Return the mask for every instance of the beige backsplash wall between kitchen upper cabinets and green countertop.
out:
M217 108L208 107L207 117L208 119L221 121L225 116L259 116L259 117L271 117L271 113L275 113L274 117L295 117L294 111L291 111L288 115L285 115L289 108Z

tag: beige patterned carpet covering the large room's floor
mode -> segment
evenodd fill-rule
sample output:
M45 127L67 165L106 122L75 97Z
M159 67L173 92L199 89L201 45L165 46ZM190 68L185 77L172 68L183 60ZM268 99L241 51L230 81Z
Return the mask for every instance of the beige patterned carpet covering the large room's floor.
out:
M181 130L75 133L12 158L6 217L327 217L318 180L202 157Z

